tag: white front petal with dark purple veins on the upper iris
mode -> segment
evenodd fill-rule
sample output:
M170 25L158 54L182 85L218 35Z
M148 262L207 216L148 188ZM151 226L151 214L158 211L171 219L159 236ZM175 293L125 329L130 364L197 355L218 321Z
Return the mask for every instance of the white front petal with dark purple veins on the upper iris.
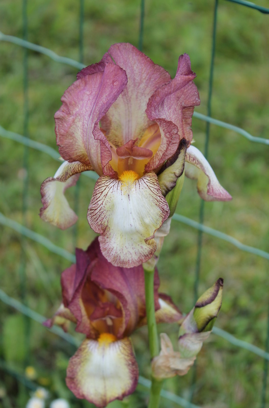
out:
M127 268L153 256L154 232L169 216L156 174L150 172L137 180L132 173L122 180L99 177L87 216L92 229L100 234L103 256L113 265Z

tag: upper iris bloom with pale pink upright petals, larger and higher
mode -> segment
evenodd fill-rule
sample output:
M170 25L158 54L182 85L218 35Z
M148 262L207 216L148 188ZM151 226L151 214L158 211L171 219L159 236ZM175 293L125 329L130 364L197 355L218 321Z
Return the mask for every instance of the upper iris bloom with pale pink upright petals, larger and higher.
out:
M65 160L41 186L40 216L60 228L77 216L64 196L79 173L99 175L88 222L100 234L103 256L115 266L149 260L154 233L169 217L165 196L181 176L197 179L206 200L229 200L201 152L191 145L200 104L190 58L181 55L174 79L128 43L114 44L100 62L77 74L55 114Z

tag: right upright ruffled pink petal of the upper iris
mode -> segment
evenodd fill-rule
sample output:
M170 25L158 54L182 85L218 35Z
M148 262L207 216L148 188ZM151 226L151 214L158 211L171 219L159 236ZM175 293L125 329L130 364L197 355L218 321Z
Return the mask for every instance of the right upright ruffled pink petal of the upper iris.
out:
M193 83L196 74L191 70L190 57L181 55L175 78L158 88L148 102L148 118L158 123L162 141L145 170L151 171L172 157L181 139L189 143L194 107L200 105L199 93Z

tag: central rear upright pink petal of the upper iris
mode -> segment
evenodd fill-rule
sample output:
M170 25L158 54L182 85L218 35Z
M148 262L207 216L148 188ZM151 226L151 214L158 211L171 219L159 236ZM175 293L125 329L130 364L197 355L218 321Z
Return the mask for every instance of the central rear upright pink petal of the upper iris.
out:
M153 92L170 81L170 74L136 47L128 43L114 44L104 55L103 60L115 61L123 68L128 84L104 118L101 127L107 139L116 147L130 139L140 139L152 123L145 111Z

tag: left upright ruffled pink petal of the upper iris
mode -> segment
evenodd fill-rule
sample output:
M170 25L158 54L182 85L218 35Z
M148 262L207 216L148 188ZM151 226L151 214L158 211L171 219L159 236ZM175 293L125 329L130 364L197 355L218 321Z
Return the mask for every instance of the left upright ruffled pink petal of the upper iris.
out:
M99 120L127 83L125 71L113 63L100 66L100 70L75 81L65 91L63 105L55 114L61 156L70 162L90 162L99 175L107 170L104 168L112 158L109 142L99 129Z

